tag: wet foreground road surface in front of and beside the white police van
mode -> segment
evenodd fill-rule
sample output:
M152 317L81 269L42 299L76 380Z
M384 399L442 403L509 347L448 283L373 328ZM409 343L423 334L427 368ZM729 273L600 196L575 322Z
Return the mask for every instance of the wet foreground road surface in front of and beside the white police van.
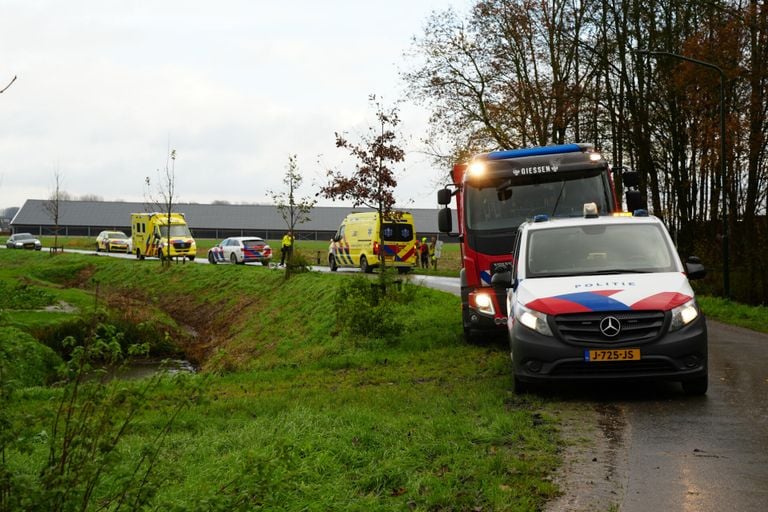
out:
M768 335L708 328L705 397L670 387L624 404L623 512L768 510Z

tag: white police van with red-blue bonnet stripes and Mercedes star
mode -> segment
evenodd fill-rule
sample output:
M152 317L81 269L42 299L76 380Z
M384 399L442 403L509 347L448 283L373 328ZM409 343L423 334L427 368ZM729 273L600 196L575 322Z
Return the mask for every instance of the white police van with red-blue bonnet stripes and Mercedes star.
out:
M671 380L707 392L707 328L664 224L645 211L540 215L518 229L507 288L515 389L553 381ZM489 303L489 306L492 305Z

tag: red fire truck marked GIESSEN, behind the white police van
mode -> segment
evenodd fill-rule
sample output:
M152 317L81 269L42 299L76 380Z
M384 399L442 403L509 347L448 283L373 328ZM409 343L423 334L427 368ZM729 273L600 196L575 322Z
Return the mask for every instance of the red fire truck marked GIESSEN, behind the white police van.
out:
M624 184L635 176L625 174ZM509 269L518 226L537 215L580 217L585 203L601 214L619 211L611 169L590 144L564 144L494 151L453 168L453 183L438 191L442 232L453 230L451 197L461 244L461 304L469 342L504 334L507 312L491 276ZM634 184L634 183L631 183ZM641 206L639 193L627 193L629 209ZM630 194L632 194L630 196Z

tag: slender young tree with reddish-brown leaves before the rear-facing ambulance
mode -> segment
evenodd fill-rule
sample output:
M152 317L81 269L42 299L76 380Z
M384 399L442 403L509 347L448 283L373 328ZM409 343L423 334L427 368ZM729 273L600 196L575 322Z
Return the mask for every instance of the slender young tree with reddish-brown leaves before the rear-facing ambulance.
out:
M335 200L352 200L353 206L366 206L379 214L379 233L385 218L397 217L394 211L394 190L397 186L393 166L405 160L405 151L396 145L400 116L397 107L386 108L376 98L368 100L376 109L376 124L368 134L353 144L343 134L336 133L336 147L344 148L358 160L355 172L346 176L339 171L328 171L329 182L320 193ZM379 251L379 262L384 268L384 251Z

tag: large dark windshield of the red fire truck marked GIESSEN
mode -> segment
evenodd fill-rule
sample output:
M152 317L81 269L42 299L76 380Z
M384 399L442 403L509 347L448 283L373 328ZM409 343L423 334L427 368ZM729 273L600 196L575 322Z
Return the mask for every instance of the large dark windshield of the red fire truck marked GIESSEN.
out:
M472 231L515 230L538 214L580 217L584 203L612 211L611 191L601 169L493 177L465 183L466 225Z

